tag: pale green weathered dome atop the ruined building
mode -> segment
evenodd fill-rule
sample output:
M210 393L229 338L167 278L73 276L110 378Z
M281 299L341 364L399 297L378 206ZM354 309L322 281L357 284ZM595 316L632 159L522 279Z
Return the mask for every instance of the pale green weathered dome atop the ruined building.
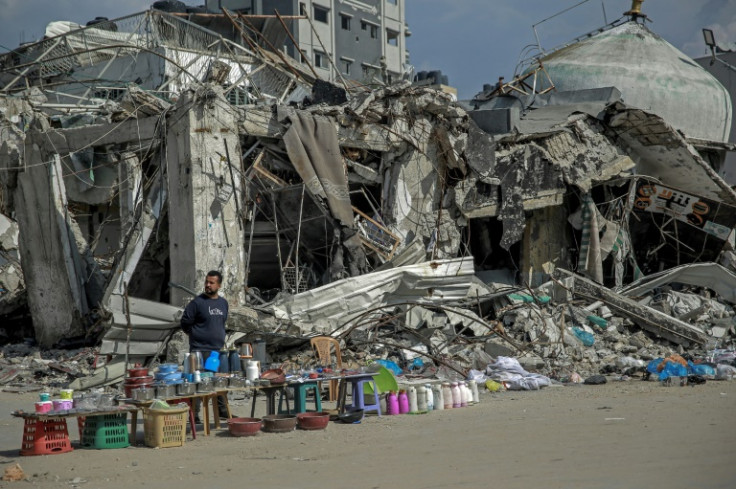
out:
M619 25L559 49L542 63L559 91L615 86L628 106L659 115L687 137L728 141L726 89L642 24Z

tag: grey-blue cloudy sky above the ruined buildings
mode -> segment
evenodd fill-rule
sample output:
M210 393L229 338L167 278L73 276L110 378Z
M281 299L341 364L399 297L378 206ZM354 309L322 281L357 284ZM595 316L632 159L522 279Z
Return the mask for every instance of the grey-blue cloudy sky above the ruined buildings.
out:
M399 0L406 2L412 36L411 62L417 71L442 70L460 98L483 83L509 80L525 46L535 43L532 25L580 0ZM85 24L96 16L122 17L146 10L153 0L0 0L0 48L43 35L53 20ZM200 1L186 1L198 5ZM630 0L588 0L537 26L546 50L619 17ZM691 57L707 55L701 29L714 30L721 46L736 47L736 0L645 0L649 28Z

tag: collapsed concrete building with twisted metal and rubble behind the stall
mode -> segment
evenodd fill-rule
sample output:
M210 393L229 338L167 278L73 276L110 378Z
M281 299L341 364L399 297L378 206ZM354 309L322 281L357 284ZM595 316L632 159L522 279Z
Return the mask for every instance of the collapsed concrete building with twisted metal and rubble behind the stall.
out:
M730 98L640 16L461 105L324 82L246 16L222 18L243 43L151 10L57 24L0 57L0 311L27 308L39 344L159 356L210 269L229 327L286 346L330 334L439 359L475 345L594 370L638 352L633 331L729 341L736 193L714 168ZM566 52L617 42L690 66L708 127L618 80L560 88ZM642 301L713 289L709 274L727 306ZM611 325L595 350L571 333L589 316Z

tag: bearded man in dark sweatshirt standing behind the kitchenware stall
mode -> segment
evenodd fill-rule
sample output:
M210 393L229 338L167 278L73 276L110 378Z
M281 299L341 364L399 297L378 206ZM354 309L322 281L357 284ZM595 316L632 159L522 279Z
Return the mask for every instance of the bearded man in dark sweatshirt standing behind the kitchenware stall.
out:
M210 352L219 352L225 346L225 321L228 304L220 297L222 274L217 270L207 272L204 279L204 292L187 304L181 317L181 329L189 336L189 351L202 352L207 359ZM217 398L221 418L227 418L227 408L221 397ZM198 411L199 405L195 410Z

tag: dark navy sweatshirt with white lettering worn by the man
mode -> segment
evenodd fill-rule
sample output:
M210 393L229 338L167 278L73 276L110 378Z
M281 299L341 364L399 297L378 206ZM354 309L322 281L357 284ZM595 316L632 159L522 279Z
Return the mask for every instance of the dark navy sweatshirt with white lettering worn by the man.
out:
M184 309L181 328L189 335L191 351L217 351L225 346L228 305L223 297L195 297Z

